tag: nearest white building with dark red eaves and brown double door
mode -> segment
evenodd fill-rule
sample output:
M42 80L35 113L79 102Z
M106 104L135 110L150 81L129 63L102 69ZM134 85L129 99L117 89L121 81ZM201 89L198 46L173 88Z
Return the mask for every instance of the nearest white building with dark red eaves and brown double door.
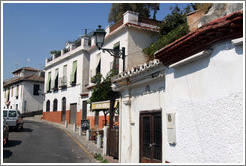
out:
M216 19L113 78L119 162L243 163L243 12Z

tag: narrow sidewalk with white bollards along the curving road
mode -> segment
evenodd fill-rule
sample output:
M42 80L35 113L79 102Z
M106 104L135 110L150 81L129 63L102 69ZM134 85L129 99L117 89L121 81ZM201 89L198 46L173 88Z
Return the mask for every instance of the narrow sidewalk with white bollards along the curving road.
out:
M73 125L69 124L67 127L65 127L65 124L61 123L55 123L50 122L44 119L41 119L41 116L34 116L34 117L25 117L24 120L30 120L30 121L36 121L43 124L52 125L54 127L60 128L67 132L69 136L71 136L74 141L78 141L80 143L80 147L91 157L94 158L95 155L101 154L101 156L106 159L109 163L118 163L118 160L113 159L111 156L104 156L103 155L103 148L97 148L97 144L94 143L94 141L86 141L86 135L84 132L82 132L81 135L79 135L79 129L76 127L76 130L73 131ZM98 161L99 162L99 161Z

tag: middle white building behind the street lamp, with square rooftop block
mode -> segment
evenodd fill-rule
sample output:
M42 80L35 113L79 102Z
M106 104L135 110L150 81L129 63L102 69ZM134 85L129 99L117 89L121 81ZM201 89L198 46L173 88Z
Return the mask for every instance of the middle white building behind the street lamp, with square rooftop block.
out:
M125 69L128 70L138 64L147 62L147 57L143 53L143 49L157 40L159 27L158 21L142 18L136 12L127 11L123 14L123 18L112 26L106 27L106 36L103 48L122 49L125 47ZM100 73L105 77L111 69L113 63L116 64L116 69L123 71L122 58L114 58L108 52L99 51L95 46L95 40L92 38L91 48L88 50L90 54L90 73L89 73L89 90L95 85L91 82L91 77ZM90 91L91 92L91 91ZM95 103L99 105L108 105L109 101ZM97 107L97 106L95 106ZM88 110L89 110L88 106ZM103 127L104 116L98 111L88 111L88 119L90 126L95 124L99 128Z

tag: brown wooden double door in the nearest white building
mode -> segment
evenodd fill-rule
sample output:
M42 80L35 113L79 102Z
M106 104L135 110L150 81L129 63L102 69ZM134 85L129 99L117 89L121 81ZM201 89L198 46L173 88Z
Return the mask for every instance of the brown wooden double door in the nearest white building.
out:
M161 112L140 114L140 162L162 162Z

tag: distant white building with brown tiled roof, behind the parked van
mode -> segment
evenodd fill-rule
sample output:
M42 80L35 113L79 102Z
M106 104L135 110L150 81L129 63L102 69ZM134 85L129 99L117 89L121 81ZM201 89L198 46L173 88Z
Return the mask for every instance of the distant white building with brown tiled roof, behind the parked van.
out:
M18 109L21 113L43 110L44 76L41 70L23 67L3 82L3 108Z

